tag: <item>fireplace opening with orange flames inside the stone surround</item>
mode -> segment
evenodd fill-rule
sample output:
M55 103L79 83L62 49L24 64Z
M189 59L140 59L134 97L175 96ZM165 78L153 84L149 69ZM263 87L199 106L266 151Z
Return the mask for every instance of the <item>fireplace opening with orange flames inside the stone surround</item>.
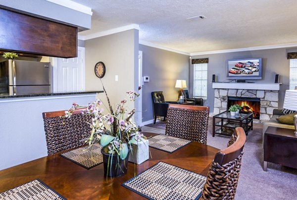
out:
M227 109L234 104L242 106L240 111L253 112L254 119L260 119L260 99L259 98L245 98L245 97L228 97Z

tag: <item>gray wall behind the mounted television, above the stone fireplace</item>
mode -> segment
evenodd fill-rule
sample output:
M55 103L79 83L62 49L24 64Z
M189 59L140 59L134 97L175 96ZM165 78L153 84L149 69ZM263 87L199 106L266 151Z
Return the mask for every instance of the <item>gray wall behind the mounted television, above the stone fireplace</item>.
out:
M289 89L289 60L287 52L295 49L271 49L271 50L251 50L230 53L217 53L208 55L192 56L194 58L209 58L207 71L207 100L204 105L210 107L210 112L213 112L214 89L212 89L212 74L216 75L216 81L226 80L226 60L240 58L262 58L262 80L252 80L255 83L274 83L275 74L280 74L281 90L279 92L279 107L283 106L286 90ZM190 64L190 82L191 92L193 92L193 64ZM228 81L228 80L226 80Z

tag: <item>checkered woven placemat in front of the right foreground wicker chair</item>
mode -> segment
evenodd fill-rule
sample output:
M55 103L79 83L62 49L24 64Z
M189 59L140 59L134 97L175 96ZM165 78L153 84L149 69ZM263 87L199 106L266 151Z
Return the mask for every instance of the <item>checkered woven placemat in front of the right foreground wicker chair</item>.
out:
M195 200L205 181L205 176L160 161L122 186L150 200Z

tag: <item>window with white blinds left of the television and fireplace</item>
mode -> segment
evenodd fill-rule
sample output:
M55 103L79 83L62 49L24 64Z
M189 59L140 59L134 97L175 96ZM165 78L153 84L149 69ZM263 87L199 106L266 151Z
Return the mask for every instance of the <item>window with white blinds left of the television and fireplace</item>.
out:
M196 98L207 98L207 63L194 64L194 91Z

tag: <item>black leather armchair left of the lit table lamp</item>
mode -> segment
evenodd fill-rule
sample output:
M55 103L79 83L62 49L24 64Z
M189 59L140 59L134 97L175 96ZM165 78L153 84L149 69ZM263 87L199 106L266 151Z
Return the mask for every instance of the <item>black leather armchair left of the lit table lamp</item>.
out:
M152 98L152 107L153 107L153 115L154 121L156 123L157 116L164 117L163 121L167 117L167 109L169 103L177 103L176 101L165 101L164 95L162 91L151 92Z

